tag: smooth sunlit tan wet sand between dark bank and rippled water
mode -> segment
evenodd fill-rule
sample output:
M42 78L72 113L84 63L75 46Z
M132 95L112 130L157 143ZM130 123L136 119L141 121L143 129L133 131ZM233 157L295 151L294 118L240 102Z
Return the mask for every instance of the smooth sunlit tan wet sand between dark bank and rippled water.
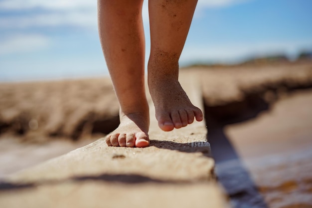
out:
M292 92L256 119L229 125L225 132L243 158L312 150L312 90Z

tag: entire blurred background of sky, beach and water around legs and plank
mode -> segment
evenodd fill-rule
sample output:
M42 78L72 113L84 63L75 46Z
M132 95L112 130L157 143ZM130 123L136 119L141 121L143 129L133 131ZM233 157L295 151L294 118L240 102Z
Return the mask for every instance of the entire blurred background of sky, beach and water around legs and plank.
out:
M207 140L235 208L312 208L311 9L198 0L180 74L202 85ZM147 1L143 19L148 60ZM118 110L96 0L0 0L0 178L105 136Z

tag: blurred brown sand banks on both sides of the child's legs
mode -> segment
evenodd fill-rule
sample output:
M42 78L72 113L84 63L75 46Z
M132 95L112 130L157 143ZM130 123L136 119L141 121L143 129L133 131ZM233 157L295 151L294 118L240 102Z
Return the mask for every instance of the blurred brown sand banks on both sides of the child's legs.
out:
M205 105L220 119L252 102L269 105L295 89L312 87L312 62L185 68L197 74ZM119 105L108 77L0 83L0 134L25 141L92 138L118 126Z

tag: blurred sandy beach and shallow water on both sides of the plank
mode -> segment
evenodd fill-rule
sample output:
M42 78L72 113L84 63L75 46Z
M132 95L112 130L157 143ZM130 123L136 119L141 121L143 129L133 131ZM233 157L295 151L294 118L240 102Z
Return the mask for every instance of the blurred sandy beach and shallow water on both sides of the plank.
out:
M311 208L312 62L180 73L202 84L207 140L232 205ZM118 108L105 77L0 83L0 177L105 136Z

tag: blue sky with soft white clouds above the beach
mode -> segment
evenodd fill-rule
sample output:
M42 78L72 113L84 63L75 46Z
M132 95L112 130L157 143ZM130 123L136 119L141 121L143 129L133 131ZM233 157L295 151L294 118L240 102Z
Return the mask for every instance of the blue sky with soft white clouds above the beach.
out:
M180 66L312 50L311 0L198 0ZM148 1L143 5L146 62ZM0 0L0 82L108 75L96 0Z

